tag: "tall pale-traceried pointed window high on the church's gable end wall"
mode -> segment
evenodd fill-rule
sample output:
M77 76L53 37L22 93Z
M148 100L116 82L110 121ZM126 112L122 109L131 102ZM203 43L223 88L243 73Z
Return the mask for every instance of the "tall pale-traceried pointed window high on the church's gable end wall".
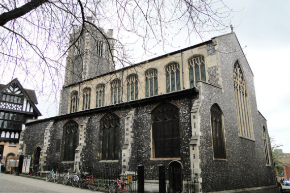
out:
M237 60L234 65L234 89L239 124L239 134L248 139L254 139L252 116L250 110L247 86L243 71Z

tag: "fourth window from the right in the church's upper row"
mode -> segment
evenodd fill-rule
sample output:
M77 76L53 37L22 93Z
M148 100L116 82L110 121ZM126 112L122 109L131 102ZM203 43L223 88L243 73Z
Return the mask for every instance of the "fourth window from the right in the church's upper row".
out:
M127 77L127 101L138 99L138 76L129 75Z

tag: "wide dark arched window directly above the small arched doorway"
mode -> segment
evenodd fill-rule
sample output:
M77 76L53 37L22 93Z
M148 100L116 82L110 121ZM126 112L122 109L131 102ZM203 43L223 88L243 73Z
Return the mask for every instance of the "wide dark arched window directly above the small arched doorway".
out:
M180 157L179 109L169 103L151 113L153 157Z

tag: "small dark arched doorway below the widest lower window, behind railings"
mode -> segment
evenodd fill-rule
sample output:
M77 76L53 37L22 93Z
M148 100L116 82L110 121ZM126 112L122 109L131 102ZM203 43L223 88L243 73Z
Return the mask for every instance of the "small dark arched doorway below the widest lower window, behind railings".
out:
M168 165L168 175L170 192L182 192L182 167L180 162L173 161Z

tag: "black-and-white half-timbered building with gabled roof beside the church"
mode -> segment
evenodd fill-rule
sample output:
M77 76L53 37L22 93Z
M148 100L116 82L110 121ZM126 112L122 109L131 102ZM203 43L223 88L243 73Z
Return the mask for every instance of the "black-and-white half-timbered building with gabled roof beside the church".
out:
M6 159L18 154L26 119L41 116L36 104L35 91L23 88L17 78L6 85L0 84L0 154Z

